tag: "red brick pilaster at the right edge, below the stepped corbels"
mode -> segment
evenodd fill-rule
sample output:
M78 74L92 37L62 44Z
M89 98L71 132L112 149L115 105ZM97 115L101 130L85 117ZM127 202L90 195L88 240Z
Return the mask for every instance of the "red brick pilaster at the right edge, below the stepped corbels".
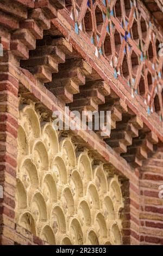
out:
M140 176L140 243L163 245L163 148L146 161Z

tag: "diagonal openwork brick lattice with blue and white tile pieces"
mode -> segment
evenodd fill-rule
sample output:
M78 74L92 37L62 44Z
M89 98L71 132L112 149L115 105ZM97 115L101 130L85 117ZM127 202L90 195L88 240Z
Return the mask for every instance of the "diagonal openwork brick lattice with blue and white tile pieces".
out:
M69 1L71 2L71 1ZM161 38L136 1L73 1L70 16L120 77L162 120Z

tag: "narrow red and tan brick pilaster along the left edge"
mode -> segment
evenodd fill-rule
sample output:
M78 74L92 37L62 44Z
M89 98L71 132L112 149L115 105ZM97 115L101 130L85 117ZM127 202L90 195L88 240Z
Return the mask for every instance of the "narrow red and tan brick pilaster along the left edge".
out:
M18 80L4 51L0 59L0 244L12 245L15 233L15 190L17 165Z

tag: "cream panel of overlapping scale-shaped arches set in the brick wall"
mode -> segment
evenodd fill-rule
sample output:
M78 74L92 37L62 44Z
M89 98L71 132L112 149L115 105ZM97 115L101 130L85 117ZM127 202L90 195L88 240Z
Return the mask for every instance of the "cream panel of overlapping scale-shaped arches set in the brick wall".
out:
M120 245L118 177L92 165L86 148L76 151L33 103L21 104L16 223L51 245Z

